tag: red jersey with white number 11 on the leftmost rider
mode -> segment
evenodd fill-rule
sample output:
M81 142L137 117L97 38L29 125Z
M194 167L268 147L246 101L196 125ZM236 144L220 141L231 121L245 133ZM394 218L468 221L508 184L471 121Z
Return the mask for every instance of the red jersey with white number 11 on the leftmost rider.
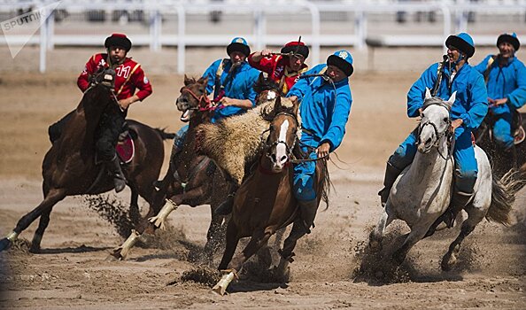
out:
M77 79L77 85L82 92L89 88L88 77L95 74L100 66L108 67L108 54L95 54L89 58L84 71ZM135 89L139 91L135 94ZM115 95L119 100L137 95L141 101L151 95L151 83L144 76L143 68L132 58L125 58L122 64L115 68Z

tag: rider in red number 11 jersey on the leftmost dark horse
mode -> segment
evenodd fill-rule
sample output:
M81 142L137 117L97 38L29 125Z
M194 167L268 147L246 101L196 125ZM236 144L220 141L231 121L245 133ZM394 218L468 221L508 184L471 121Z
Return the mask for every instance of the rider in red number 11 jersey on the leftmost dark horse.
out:
M113 176L115 191L120 192L126 187L126 178L120 168L120 159L115 152L119 135L125 126L125 118L129 105L143 101L151 95L151 83L146 78L143 68L132 58L128 51L132 47L126 35L112 34L104 41L106 53L98 53L89 58L84 70L77 79L77 85L82 92L89 89L89 76L97 73L101 67L111 67L115 70L114 92L119 105L108 105L98 123L96 132L97 160L102 161ZM135 93L135 89L139 89ZM74 112L74 111L73 111ZM51 143L56 141L66 121L73 112L58 120L49 128Z

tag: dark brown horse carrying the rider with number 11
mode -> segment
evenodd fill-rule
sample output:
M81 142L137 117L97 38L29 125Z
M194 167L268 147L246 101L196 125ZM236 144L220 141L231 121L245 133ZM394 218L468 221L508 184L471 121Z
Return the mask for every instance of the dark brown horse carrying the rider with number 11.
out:
M54 205L67 196L97 195L113 190L112 176L107 174L103 165L96 163L95 134L105 108L118 105L113 93L114 76L115 71L111 68L101 69L92 76L91 86L66 121L62 135L44 156L43 201L18 221L12 233L0 240L0 251L11 246L19 234L40 217L30 247L31 252L40 252ZM135 155L123 166L123 172L132 192L132 208L136 207L140 195L149 203L150 213L157 213L162 201L157 198L154 182L164 159L163 135L159 129L138 121L127 122L135 143ZM147 218L143 218L138 229L147 223Z

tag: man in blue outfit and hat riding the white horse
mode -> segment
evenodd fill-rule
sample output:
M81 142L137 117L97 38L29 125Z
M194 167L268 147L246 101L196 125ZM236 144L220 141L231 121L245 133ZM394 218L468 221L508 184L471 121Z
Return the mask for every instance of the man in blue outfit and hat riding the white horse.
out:
M452 227L456 214L468 205L473 196L478 171L471 132L482 123L488 112L488 103L482 74L468 64L468 58L475 53L475 44L471 36L466 33L450 35L445 40L445 46L447 57L444 62L429 66L409 89L407 115L422 116L426 88L433 89L432 96L445 100L456 92L456 100L450 112L451 129L456 140L453 150L455 161L453 197L448 211L436 222L439 224L440 221L445 221L448 227ZM413 161L416 154L416 141L417 129L398 146L387 161L384 188L378 193L383 206L398 174ZM434 231L436 227L437 225L434 225L432 230Z

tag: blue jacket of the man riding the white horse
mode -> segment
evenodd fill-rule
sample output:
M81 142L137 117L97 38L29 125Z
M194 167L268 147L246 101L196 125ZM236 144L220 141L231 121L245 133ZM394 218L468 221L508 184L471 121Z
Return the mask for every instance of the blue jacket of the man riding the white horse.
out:
M420 115L418 109L422 107L426 87L433 89L435 81L437 81L437 69L438 63L429 66L409 89L407 93L407 115L409 117ZM453 78L453 83L451 83L448 66L445 66L443 70L444 74L442 74L442 82L437 91L437 97L447 100L456 91L456 100L451 108L451 118L452 120L462 119L462 127L468 131L475 130L480 126L488 112L488 93L484 85L483 75L466 63L460 67L459 72Z

